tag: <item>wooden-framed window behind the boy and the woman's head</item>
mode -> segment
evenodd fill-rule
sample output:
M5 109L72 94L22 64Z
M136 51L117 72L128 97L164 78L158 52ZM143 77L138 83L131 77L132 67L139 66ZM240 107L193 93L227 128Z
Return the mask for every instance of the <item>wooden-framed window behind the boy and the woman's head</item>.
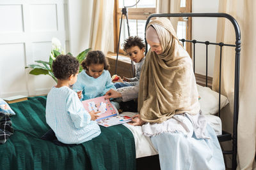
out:
M122 17L122 28L120 34L120 46L119 52L124 53L122 50L122 44L124 43L124 39L128 38L128 29L127 29L127 20L122 15L122 8L124 6L132 6L136 4L138 0L115 0L115 15L114 15L114 39L115 39L115 52L117 50L118 45L118 37L120 31L120 22ZM191 12L191 0L180 0L180 12L182 13L190 13ZM145 24L147 18L152 13L156 13L156 0L140 0L138 4L133 7L127 8L127 16L129 22L129 30L130 36L140 36L142 39L145 39ZM177 36L179 39L191 38L191 18L179 18L179 22L177 25ZM185 43L184 46L186 50L191 52L191 45Z

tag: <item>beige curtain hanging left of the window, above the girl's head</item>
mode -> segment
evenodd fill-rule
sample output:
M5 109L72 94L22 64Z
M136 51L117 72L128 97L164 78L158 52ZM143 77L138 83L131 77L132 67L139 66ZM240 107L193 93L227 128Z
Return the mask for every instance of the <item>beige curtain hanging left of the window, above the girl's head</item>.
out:
M114 0L94 0L89 47L106 55L109 43L113 43ZM112 41L111 41L112 40Z

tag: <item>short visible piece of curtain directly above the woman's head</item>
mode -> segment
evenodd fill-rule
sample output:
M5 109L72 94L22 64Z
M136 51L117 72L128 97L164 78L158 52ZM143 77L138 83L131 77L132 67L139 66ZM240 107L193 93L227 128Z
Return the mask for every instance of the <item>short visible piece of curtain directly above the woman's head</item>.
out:
M157 0L156 13L180 13L180 0ZM171 17L170 20L177 32L179 17Z

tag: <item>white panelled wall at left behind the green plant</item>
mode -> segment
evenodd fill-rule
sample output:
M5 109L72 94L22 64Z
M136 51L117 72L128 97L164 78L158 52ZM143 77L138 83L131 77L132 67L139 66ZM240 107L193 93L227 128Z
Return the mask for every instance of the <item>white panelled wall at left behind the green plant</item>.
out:
M0 1L0 97L49 92L55 81L25 66L49 60L52 37L69 44L65 13L65 0Z

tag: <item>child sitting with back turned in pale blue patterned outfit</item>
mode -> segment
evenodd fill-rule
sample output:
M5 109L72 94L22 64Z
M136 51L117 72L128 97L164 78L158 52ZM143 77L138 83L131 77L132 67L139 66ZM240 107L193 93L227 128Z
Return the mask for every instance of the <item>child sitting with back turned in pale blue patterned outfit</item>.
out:
M58 141L79 144L100 134L97 112L84 110L77 93L69 87L77 81L79 62L70 55L58 55L52 62L52 71L58 79L47 95L45 117Z

